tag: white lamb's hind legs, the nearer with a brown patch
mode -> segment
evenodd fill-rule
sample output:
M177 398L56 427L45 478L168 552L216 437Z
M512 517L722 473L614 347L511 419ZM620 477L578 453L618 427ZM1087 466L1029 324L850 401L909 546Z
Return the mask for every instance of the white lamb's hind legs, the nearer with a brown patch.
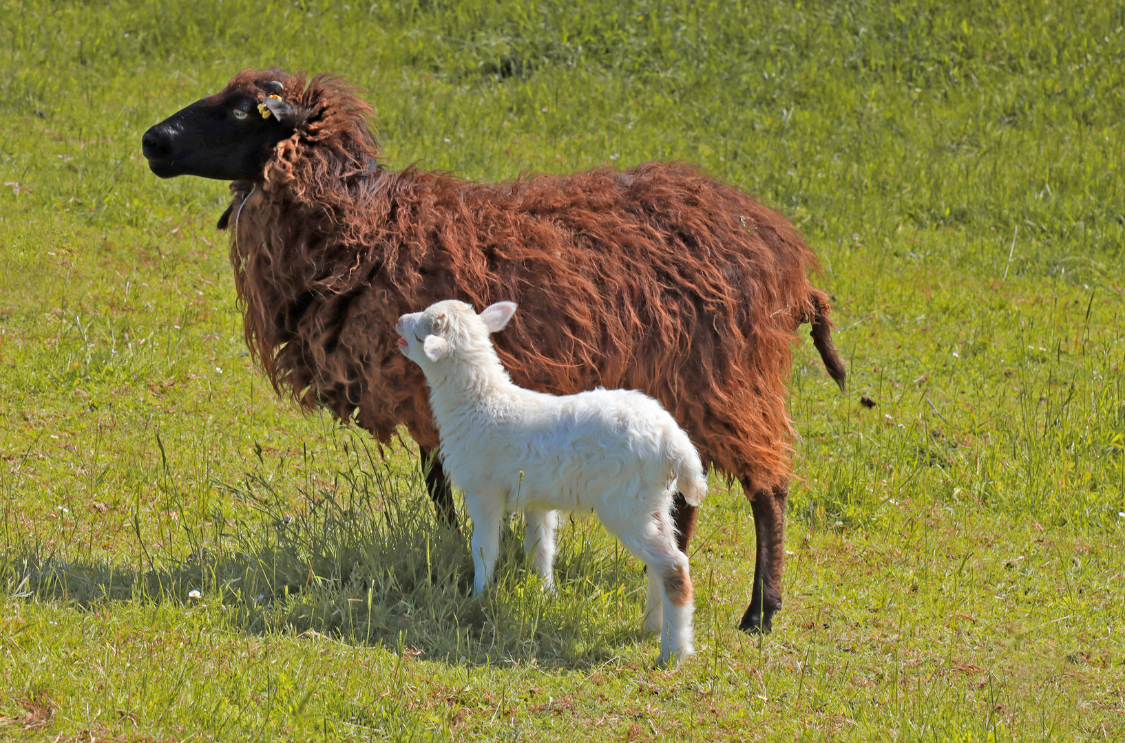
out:
M692 654L692 615L695 613L694 587L687 568L687 555L676 546L672 519L666 513L647 514L640 518L610 518L598 514L605 527L626 549L648 568L648 601L654 600L654 582L660 591L660 665L678 665ZM649 613L652 617L656 611ZM646 619L649 628L649 619Z

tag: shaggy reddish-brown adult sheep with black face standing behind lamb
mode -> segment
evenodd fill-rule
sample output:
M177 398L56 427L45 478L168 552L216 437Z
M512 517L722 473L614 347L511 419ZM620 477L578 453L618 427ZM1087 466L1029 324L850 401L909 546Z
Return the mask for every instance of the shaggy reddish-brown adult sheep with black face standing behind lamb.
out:
M514 300L497 336L514 381L658 399L704 464L737 478L757 534L741 629L781 608L791 426L785 383L802 323L844 368L816 257L756 199L683 164L474 183L379 164L371 107L330 75L245 70L142 141L162 178L231 180L231 262L246 343L273 386L388 442L438 446L425 379L398 353L399 315L442 299ZM453 522L439 461L428 486ZM695 509L677 497L686 551Z

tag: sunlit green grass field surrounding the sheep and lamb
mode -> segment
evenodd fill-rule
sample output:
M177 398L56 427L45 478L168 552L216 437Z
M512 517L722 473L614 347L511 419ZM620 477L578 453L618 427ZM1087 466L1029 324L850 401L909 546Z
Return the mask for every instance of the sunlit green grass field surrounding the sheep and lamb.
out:
M1125 737L1125 3L0 0L0 739ZM699 654L567 525L467 595L408 443L278 400L225 183L142 133L245 66L348 74L392 166L680 158L803 229L785 608L714 480ZM878 406L858 405L870 395ZM198 598L192 596L198 591Z

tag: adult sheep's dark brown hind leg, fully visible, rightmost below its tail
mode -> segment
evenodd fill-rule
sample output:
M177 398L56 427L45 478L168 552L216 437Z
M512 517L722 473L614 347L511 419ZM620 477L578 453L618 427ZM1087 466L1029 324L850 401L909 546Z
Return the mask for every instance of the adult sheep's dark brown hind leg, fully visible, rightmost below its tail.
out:
M773 631L774 613L781 609L781 576L785 561L784 486L753 491L744 482L754 511L757 555L754 561L754 589L750 605L738 628L752 635Z

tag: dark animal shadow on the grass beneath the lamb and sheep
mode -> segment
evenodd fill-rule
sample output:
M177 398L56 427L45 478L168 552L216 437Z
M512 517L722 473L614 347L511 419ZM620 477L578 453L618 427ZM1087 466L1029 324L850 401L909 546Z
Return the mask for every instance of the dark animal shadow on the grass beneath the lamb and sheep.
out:
M320 633L470 664L592 667L646 642L642 570L596 519L560 531L551 595L524 565L514 517L495 585L474 598L464 514L461 529L439 525L421 472L368 462L296 498L261 473L223 484L251 516L214 511L207 534L186 529L187 556L138 541L138 567L25 545L0 562L0 580L21 598L206 607L250 633Z

